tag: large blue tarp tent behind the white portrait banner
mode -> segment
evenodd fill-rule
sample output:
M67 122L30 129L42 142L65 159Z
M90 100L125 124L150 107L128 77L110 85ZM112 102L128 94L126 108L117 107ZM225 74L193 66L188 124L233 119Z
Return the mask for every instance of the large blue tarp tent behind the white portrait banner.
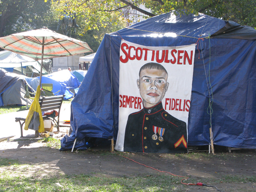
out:
M200 39L199 39L200 38ZM208 15L166 13L106 34L71 103L61 150L86 149L86 137L116 138L121 39L145 46L197 43L188 145L256 149L256 30Z

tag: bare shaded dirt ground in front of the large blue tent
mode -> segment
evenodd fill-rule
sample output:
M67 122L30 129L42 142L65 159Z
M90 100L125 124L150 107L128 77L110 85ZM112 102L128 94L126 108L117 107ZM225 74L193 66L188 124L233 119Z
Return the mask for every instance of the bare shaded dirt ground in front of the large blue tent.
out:
M40 171L41 177L60 173L105 175L107 177L167 174L141 165L145 164L175 175L196 178L197 182L200 182L202 178L217 179L218 183L207 183L207 185L215 185L223 192L256 191L256 183L226 183L223 178L223 175L256 176L255 150L234 150L232 153L228 153L221 150L218 152L216 149L216 155L208 154L208 152L198 152L196 155L190 155L190 153L175 155L165 153L110 153L110 147L110 141L98 140L93 148L86 151L59 151L46 147L43 142L38 142L38 139L35 138L15 139L9 142L0 142L0 157L36 165L37 170L28 169L26 174L35 175ZM6 167L0 168L0 172L3 169ZM217 192L215 188L204 186L187 186L186 191Z

